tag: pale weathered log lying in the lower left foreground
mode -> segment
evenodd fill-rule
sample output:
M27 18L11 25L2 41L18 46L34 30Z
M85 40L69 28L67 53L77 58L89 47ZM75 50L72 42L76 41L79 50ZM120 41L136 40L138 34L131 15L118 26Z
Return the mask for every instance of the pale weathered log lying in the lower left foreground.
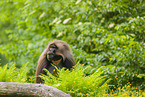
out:
M0 82L0 97L71 97L54 87L34 83Z

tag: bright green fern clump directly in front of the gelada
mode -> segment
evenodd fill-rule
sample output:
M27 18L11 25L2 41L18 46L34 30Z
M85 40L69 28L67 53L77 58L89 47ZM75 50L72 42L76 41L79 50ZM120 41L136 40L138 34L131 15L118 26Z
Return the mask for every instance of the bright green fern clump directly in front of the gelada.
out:
M73 97L101 96L107 93L109 82L106 76L101 76L104 72L103 68L99 68L90 76L85 76L85 69L77 64L72 71L57 69L58 76L53 76L47 71L48 76L43 75L41 78L45 80L45 84L69 93Z

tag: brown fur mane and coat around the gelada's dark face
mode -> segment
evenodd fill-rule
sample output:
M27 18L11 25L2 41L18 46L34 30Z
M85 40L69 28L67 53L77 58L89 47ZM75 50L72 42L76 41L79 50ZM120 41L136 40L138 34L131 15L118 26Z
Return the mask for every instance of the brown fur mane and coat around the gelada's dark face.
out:
M38 75L40 75L41 73L44 74L43 69L44 68L48 69L49 66L51 65L51 63L53 63L52 62L53 60L49 61L47 59L47 52L49 51L49 46L51 44L55 44L58 47L58 49L55 52L55 55L62 56L61 64L63 64L63 67L71 69L72 66L75 65L75 60L74 60L74 57L72 55L72 51L71 51L70 46L65 41L62 41L62 40L52 41L48 44L47 48L43 51L43 53L39 57L38 64L37 64L37 69L36 69L35 83L41 83L42 82L41 78L38 77Z

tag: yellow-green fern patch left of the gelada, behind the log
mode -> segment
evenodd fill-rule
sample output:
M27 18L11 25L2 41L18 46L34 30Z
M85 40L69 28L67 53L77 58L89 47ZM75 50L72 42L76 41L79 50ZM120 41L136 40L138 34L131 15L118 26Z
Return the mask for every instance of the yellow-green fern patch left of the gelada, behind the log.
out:
M0 67L0 82L26 82L27 80L27 63L20 69L15 64L6 64Z

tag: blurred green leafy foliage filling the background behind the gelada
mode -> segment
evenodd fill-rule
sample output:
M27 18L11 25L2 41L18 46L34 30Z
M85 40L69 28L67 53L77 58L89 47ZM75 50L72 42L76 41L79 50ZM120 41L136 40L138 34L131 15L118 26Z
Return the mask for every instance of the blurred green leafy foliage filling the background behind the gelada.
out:
M48 42L64 40L86 75L105 66L110 84L144 89L144 10L143 0L1 0L0 53L34 76Z

